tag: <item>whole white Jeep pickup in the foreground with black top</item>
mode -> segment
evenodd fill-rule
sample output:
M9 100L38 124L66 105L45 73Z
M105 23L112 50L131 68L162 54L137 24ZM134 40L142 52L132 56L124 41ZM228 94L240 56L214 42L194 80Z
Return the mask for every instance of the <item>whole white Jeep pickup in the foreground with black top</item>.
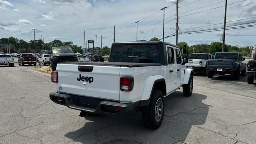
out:
M164 118L164 97L183 87L193 90L193 69L180 49L167 42L113 43L109 62L60 62L52 72L57 92L50 99L75 110L123 114L142 111L147 128L158 128Z

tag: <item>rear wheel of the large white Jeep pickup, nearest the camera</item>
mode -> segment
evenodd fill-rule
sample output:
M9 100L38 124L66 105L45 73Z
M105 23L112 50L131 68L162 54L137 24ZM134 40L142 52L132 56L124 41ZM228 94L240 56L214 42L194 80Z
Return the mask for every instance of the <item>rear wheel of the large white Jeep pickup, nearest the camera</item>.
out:
M142 110L142 120L146 128L157 129L164 118L164 95L160 90L153 90L150 104Z

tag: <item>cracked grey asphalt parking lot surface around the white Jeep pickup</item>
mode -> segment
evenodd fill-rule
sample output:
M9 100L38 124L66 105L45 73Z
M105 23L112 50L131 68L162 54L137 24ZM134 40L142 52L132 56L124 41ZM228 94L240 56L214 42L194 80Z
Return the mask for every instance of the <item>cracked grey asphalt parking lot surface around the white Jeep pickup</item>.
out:
M78 117L49 99L55 84L30 68L0 66L1 144L256 143L256 85L246 76L195 74L192 96L182 90L167 96L162 125L149 130L137 112Z

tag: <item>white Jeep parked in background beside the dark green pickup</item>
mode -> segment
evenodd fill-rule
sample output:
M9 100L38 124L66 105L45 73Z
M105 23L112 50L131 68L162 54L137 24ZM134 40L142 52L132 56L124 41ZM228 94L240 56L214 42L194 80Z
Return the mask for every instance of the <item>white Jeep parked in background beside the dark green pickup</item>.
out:
M207 53L196 53L191 54L186 64L187 68L192 68L194 72L204 72L206 74L206 62L214 59L212 54Z

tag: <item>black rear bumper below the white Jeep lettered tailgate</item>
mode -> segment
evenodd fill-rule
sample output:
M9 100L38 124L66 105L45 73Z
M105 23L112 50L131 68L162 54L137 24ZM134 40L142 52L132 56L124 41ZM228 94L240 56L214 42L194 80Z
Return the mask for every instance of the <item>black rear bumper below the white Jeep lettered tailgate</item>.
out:
M135 108L137 103L120 103L98 98L89 98L86 96L77 96L70 94L60 94L58 92L50 93L50 99L56 104L61 104L75 110L90 112L94 114L124 114Z

